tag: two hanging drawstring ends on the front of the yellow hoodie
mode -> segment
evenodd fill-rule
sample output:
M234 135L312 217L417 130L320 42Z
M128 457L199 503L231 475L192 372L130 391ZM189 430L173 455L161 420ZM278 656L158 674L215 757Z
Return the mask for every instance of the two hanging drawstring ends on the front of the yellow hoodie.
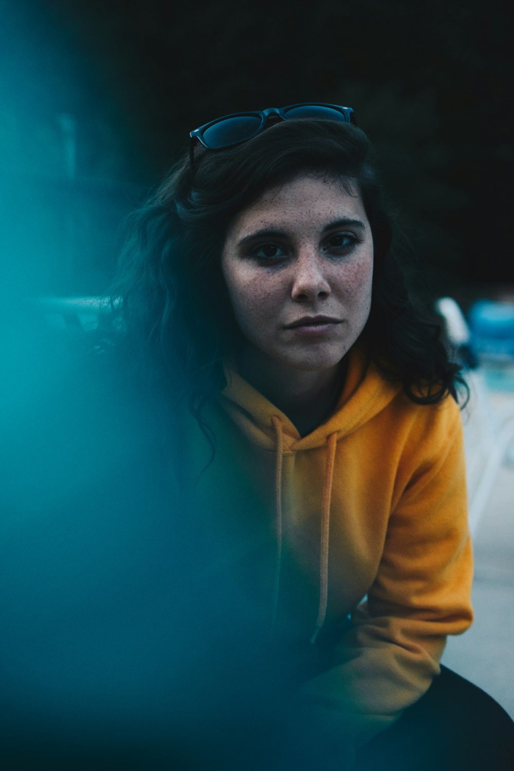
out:
M281 581L282 563L282 461L284 457L284 434L282 424L277 416L272 416L276 443L275 443L275 536L277 539L277 554L275 558L273 599L271 606L271 632L270 640L273 640L275 624L277 621L278 592ZM330 505L332 497L332 483L334 481L335 453L338 444L338 434L332 433L327 438L328 454L325 466L323 497L321 499L321 542L320 542L320 599L317 608L317 620L311 643L314 643L317 634L324 624L327 614L328 601L328 534L330 532Z

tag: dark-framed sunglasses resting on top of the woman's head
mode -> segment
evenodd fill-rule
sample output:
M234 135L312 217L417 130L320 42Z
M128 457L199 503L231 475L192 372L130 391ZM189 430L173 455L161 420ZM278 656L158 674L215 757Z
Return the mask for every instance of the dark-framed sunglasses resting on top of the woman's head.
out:
M294 120L297 118L321 118L322 120L341 120L343 123L356 123L351 107L338 104L307 102L290 104L287 107L268 107L250 113L232 113L210 120L198 129L190 132L190 161L193 168L194 142L198 140L207 150L225 150L227 147L247 142L257 136L267 126L268 118Z

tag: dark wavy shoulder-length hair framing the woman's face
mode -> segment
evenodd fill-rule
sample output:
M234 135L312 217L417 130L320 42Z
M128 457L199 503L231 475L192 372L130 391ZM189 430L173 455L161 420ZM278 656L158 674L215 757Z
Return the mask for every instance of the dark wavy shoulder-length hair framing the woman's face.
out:
M129 223L111 292L118 344L139 375L186 393L204 432L203 406L224 385L223 355L240 342L220 264L227 228L264 191L301 173L340 180L363 201L375 254L362 333L371 359L413 402L456 399L459 365L406 286L368 137L346 123L290 120L227 150L199 146L193 169L189 157L176 163Z

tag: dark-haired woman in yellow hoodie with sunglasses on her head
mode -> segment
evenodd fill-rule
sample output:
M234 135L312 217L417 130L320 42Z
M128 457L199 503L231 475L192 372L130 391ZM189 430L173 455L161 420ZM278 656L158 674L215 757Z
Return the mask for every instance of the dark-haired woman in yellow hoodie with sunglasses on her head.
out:
M206 580L230 587L220 638L250 617L249 661L281 662L265 657L309 736L291 767L307 746L320 768L509 767L505 742L463 749L469 715L434 755L416 743L455 710L464 681L439 659L472 621L459 371L405 288L368 139L323 105L191 137L136 215L114 311L139 373L189 403L174 465L215 544Z

